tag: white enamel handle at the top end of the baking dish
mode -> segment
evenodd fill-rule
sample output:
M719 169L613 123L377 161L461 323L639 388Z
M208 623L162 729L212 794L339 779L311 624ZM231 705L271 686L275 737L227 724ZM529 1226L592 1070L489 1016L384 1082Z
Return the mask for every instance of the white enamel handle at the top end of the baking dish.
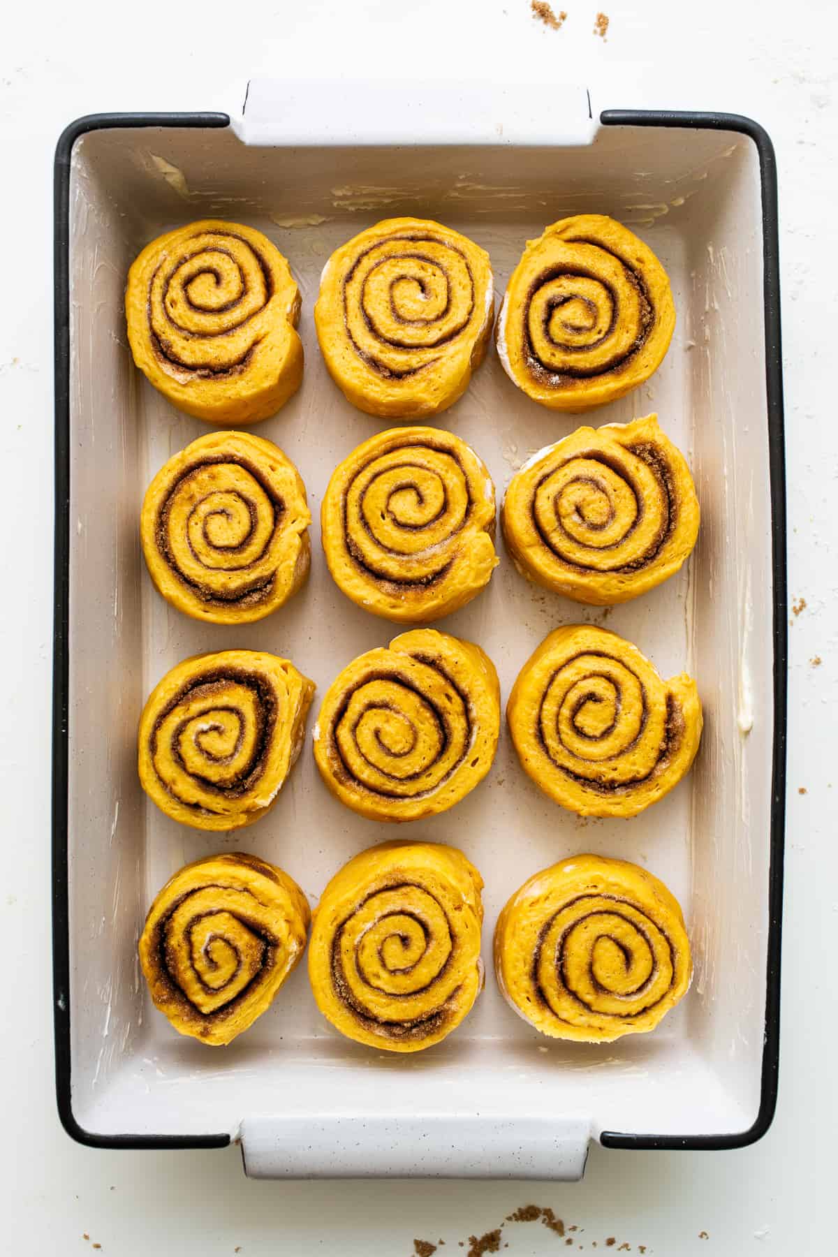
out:
M340 106L335 108L335 98ZM250 79L231 124L246 145L405 147L589 145L599 129L585 87L554 83L289 82Z

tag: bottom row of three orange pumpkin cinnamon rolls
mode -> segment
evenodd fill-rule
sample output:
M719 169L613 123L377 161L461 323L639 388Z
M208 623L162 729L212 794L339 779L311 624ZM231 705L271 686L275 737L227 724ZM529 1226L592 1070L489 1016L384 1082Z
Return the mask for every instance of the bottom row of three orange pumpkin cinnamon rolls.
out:
M443 1040L484 985L482 879L455 847L382 843L328 882L312 914L281 869L224 854L162 887L139 940L156 1007L182 1035L230 1043L302 959L320 1012L369 1047ZM494 938L511 1008L553 1038L612 1042L653 1029L690 984L677 900L637 865L579 855L511 896Z

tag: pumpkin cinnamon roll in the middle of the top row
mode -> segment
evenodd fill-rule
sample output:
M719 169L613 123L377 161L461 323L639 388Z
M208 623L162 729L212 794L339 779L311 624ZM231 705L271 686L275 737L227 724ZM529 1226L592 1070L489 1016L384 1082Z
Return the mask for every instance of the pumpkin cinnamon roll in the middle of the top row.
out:
M329 375L382 419L451 406L485 356L492 316L489 254L425 219L386 219L342 245L314 307Z

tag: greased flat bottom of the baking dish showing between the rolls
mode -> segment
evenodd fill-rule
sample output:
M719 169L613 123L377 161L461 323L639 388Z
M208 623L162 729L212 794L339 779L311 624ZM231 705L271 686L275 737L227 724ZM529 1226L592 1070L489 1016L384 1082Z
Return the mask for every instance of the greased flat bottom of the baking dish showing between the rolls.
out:
M349 224L328 222L297 231L276 230L265 222L255 225L266 230L289 259L305 294L299 328L305 347L302 390L278 415L261 422L258 434L274 441L288 455L305 483L314 517L310 529L310 578L299 593L268 620L235 628L192 622L175 608L167 607L151 585L144 583L143 605L148 623L144 636L147 688L188 655L232 646L264 649L293 659L304 675L317 681L315 714L328 685L343 667L366 651L386 647L395 636L391 625L377 621L351 605L330 579L317 519L334 468L362 441L391 425L386 420L374 420L359 412L338 393L327 376L310 319L312 294L317 293L319 269L334 249L349 238L356 228L356 217ZM462 226L456 222L452 225L457 229ZM524 226L510 224L503 228L472 222L467 226L466 234L486 248L491 256L499 290L503 292L520 256L524 240L536 236L541 228L543 222ZM683 273L677 238L665 235L663 243L656 238L655 249L671 274ZM685 447L688 445L687 415L678 403L678 398L685 396L683 372L678 362L673 365L677 370L670 370L667 360L652 380L653 406L666 435L676 445ZM623 422L650 409L652 401L645 397L641 407L629 396L597 410L596 417L588 416L585 420L552 414L531 403L511 386L492 347L469 390L456 406L446 411L442 422L484 458L500 498L514 471L531 451L568 435L580 422ZM438 425L440 420L435 422ZM205 425L172 411L165 398L150 388L143 391L139 424L150 478L172 453L210 431ZM500 566L489 586L472 603L446 616L438 627L481 645L499 670L505 703L515 675L535 646L558 623L578 620L580 608L523 581L514 571L500 535L498 553ZM686 587L687 573L682 571L665 588L638 598L634 605L618 607L613 612L606 610L589 613L594 617L606 616L608 627L637 642L663 675L672 675L686 664L682 630ZM701 683L701 678L699 681ZM371 843L389 838L392 830L379 832L377 826L371 828L369 821L353 815L329 796L313 760L313 724L314 720L310 719L303 754L271 815L249 827L244 845L261 859L285 869L300 884L314 906L323 887L342 865ZM639 860L645 855L650 870L672 886L677 897L688 905L690 881L683 835L687 830L691 791L692 786L683 783L657 804L653 821L641 817L632 822L629 830L619 821L592 822L583 842L575 818L565 816L550 799L541 797L521 773L511 742L504 732L496 760L480 787L459 803L455 812L423 820L421 832L417 832L420 823L408 826L407 830L400 828L398 837L454 843L480 869L486 881L482 955L487 960L491 957L491 929L500 906L513 890L525 876L582 847L629 860ZM204 836L183 832L166 817L151 813L152 810L148 808L146 823L150 872L146 904L151 904L156 891L176 867L190 859L211 854ZM675 842L667 841L667 835L671 833L677 835ZM683 1021L682 1009L673 1012L655 1038L680 1038L683 1035ZM152 1019L151 1033L157 1046L173 1053L188 1051L188 1045L183 1047L165 1024L155 1024L156 1022L162 1023L162 1018ZM442 1060L459 1056L485 1036L489 1036L491 1050L499 1053L499 1058L511 1052L514 1045L531 1045L535 1038L503 1006L491 978L467 1021L449 1040L437 1045L430 1056ZM246 1050L281 1053L294 1045L308 1055L324 1058L335 1053L340 1058L352 1057L363 1051L344 1045L324 1029L308 991L304 967L288 978L271 1008L248 1029L240 1045L227 1050L227 1053L234 1053L230 1068L236 1068L235 1052ZM574 1050L582 1053L588 1051L585 1047ZM614 1051L619 1052L619 1046ZM544 1068L553 1065L552 1060L541 1057L538 1062Z

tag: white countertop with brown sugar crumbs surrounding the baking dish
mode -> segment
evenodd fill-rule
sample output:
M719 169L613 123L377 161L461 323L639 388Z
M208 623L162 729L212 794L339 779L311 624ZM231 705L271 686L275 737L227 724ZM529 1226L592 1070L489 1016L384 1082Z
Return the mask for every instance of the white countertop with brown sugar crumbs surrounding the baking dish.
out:
M498 1227L549 1205L574 1243L658 1257L834 1253L838 827L832 703L838 675L838 490L834 287L838 19L828 0L739 6L569 4L560 30L529 0L352 0L246 11L220 0L15 5L0 44L3 268L0 442L4 860L0 954L9 988L0 1037L6 1123L0 1247L87 1252L408 1257L413 1239ZM562 6L554 5L558 11ZM412 10L412 15L407 16ZM239 13L246 16L237 24ZM459 58L459 60L457 60ZM52 654L52 153L72 118L108 109L235 108L251 75L570 79L596 108L675 107L751 114L779 163L789 478L789 793L783 1048L775 1124L739 1153L608 1153L579 1184L254 1183L237 1149L104 1153L79 1148L55 1115L49 938ZM335 93L335 99L339 93ZM35 488L29 498L28 490ZM822 660L819 666L810 662ZM829 719L833 716L832 720ZM815 958L823 955L818 964ZM828 968L832 965L832 968ZM464 1241L464 1247L459 1247ZM511 1254L568 1251L540 1223L504 1228ZM623 1244L631 1246L629 1249ZM501 1247L501 1251L503 1249Z

